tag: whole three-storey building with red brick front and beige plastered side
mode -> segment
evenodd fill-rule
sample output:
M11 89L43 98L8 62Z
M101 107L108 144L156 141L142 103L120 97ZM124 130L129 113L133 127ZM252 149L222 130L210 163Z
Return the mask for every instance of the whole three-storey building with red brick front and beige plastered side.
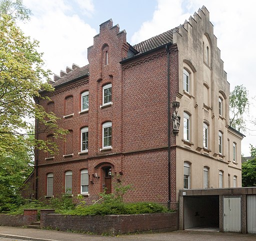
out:
M229 83L204 6L134 46L103 22L88 62L54 75L51 100L39 101L69 134L39 134L59 151L36 152L30 194L95 199L121 181L133 187L125 201L176 208L179 189L241 186L243 135L228 125Z

